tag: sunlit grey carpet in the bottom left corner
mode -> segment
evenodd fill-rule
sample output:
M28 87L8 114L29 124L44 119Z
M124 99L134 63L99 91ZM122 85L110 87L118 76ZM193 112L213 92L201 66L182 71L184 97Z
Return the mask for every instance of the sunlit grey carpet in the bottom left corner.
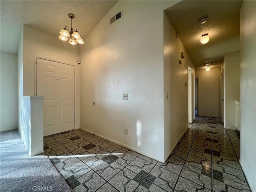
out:
M47 156L28 155L17 130L0 135L1 192L72 192Z

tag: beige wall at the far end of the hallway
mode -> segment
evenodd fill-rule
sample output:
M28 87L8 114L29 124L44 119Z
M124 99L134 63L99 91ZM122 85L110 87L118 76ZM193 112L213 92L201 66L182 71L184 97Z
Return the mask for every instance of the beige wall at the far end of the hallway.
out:
M198 77L198 115L220 117L220 68L195 71Z

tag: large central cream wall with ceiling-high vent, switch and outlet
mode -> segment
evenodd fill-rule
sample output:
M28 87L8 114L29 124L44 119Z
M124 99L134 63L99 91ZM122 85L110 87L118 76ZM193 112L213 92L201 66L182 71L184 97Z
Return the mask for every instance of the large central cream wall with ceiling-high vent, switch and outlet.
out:
M85 38L80 54L81 128L159 161L164 161L163 10L175 3L118 1ZM120 10L122 19L110 25Z

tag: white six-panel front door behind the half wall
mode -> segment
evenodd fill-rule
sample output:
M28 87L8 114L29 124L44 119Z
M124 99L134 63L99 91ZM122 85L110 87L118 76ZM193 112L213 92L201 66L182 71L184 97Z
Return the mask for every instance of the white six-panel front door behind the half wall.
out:
M74 66L37 58L37 95L44 96L44 136L74 129Z

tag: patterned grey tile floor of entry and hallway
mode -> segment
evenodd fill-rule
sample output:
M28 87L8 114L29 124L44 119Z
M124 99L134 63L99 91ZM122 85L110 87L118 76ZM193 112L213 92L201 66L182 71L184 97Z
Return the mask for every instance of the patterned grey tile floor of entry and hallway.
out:
M250 191L220 118L196 116L165 163L80 129L44 137L44 152L74 192Z

